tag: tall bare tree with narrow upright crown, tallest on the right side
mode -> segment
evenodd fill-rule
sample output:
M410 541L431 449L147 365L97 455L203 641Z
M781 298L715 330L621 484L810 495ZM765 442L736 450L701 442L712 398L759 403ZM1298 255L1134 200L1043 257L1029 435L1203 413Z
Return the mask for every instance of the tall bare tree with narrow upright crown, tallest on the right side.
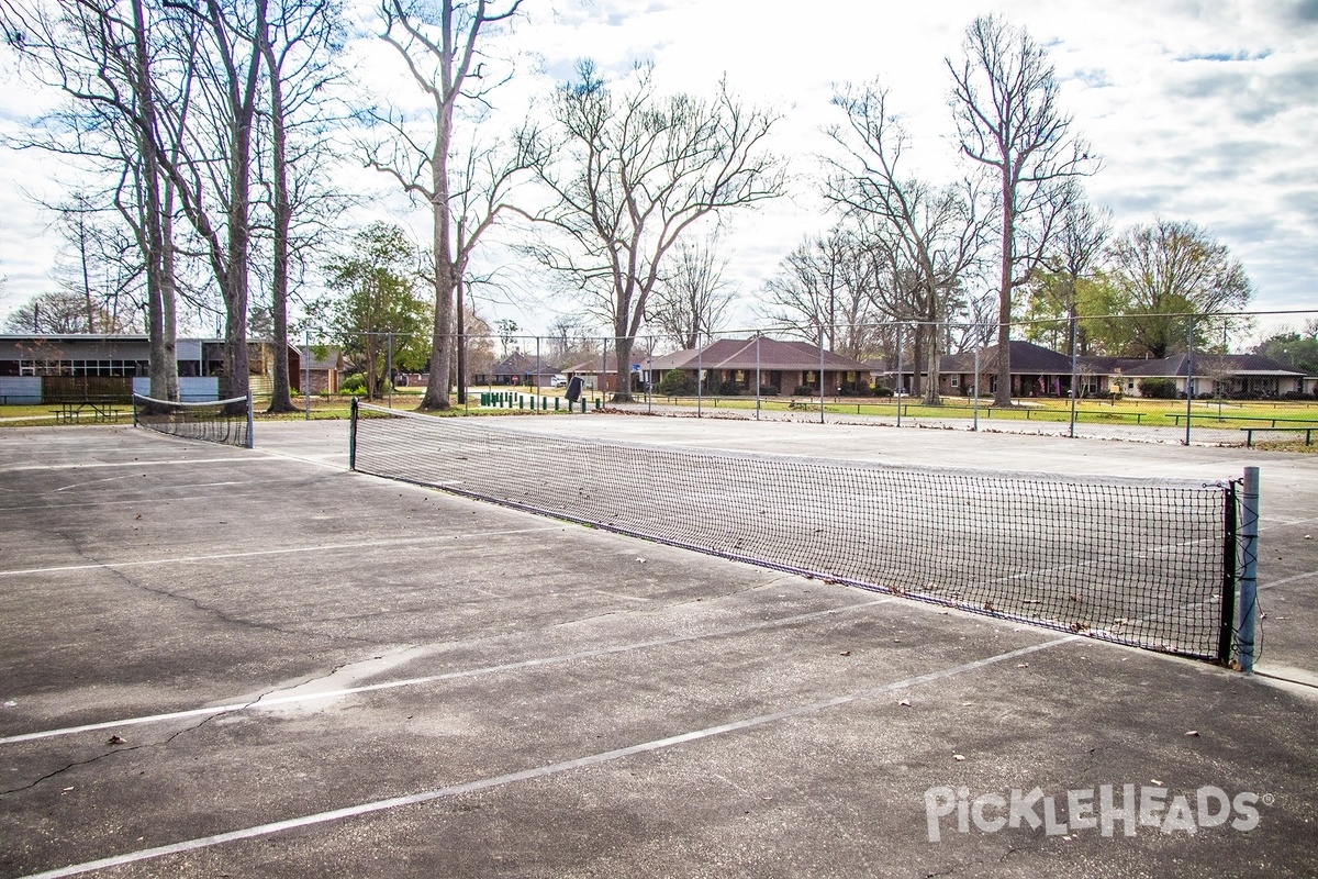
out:
M966 29L952 72L952 111L961 150L999 186L998 387L995 406L1011 405L1012 291L1027 283L1056 233L1075 188L1097 162L1057 105L1057 75L1044 46L996 16Z

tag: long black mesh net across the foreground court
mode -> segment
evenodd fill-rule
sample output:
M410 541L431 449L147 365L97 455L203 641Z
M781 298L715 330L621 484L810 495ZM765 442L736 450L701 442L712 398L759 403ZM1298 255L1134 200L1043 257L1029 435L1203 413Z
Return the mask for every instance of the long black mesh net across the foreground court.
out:
M1085 480L565 439L355 409L364 473L729 559L1227 659L1235 482Z

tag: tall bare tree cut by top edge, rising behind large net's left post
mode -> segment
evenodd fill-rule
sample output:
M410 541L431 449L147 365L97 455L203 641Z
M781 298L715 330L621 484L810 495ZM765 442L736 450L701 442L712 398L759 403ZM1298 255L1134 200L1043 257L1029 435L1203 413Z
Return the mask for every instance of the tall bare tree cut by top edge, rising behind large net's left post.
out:
M399 112L373 113L373 121L391 137L368 146L368 165L393 177L409 195L424 199L434 219L435 324L422 409L449 406L455 293L480 237L506 210L507 191L526 163L518 144L500 150L476 146L473 141L467 152L467 174L455 174L460 169L449 166L459 104L467 100L480 108L488 92L500 84L486 84L481 36L517 14L519 5L521 0L506 0L497 7L486 0L384 0L380 8L385 21L381 37L403 58L432 107L424 138L414 136ZM464 306L459 304L456 311L464 314Z

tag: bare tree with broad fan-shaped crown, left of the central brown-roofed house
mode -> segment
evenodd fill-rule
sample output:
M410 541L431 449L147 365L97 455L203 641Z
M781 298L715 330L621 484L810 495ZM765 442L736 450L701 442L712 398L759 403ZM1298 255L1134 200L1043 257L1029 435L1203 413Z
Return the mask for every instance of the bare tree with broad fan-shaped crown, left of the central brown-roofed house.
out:
M616 401L630 401L631 349L666 257L705 217L776 198L783 162L768 153L776 117L721 82L713 100L659 95L650 66L614 91L594 65L560 86L559 134L538 140L535 171L554 207L534 215L559 242L534 248L571 278L616 337Z

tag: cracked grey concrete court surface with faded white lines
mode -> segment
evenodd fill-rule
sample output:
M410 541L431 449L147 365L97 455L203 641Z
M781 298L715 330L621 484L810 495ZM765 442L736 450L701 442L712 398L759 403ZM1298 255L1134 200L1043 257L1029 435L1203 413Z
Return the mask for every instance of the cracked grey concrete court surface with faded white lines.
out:
M1070 473L1256 463L1261 668L1318 671L1311 456L507 424ZM348 473L345 434L0 432L0 875L1318 874L1304 683ZM1120 810L1140 799L1148 824Z

